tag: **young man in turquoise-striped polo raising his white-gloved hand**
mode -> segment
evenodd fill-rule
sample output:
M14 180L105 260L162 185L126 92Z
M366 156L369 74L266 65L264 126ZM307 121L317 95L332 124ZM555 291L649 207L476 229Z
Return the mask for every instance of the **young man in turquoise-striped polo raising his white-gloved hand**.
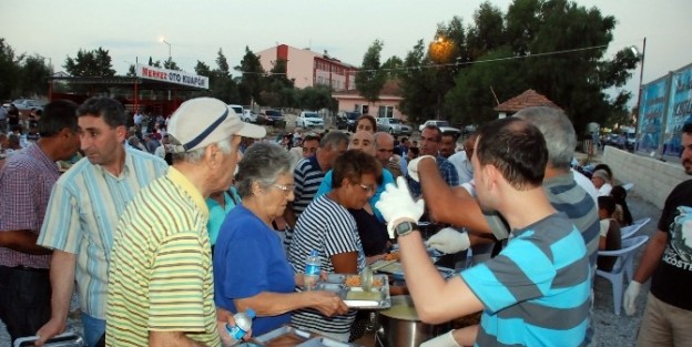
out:
M541 132L509 118L479 130L472 164L478 201L511 229L495 258L445 280L432 265L416 222L424 202L406 183L378 203L398 235L401 265L418 316L442 323L482 309L480 325L448 333L428 346L582 346L589 324L591 267L577 227L542 188L548 150ZM394 235L391 235L394 236Z

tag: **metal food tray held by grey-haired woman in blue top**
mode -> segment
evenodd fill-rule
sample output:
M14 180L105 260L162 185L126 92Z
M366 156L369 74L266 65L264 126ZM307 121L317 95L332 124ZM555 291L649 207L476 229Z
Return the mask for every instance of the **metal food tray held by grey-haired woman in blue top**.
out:
M365 292L363 287L359 286L346 285L349 276L358 275L329 275L327 282L317 283L316 289L337 293L346 306L350 308L380 309L391 306L389 278L387 278L387 275L373 275L374 285L370 292Z

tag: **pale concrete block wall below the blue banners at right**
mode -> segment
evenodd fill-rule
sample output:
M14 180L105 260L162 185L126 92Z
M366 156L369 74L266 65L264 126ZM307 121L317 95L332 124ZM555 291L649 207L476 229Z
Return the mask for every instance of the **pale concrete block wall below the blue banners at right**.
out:
M663 208L665 198L678 184L692 178L678 162L661 162L612 146L606 146L601 162L612 169L617 181L634 183L634 192L659 208Z

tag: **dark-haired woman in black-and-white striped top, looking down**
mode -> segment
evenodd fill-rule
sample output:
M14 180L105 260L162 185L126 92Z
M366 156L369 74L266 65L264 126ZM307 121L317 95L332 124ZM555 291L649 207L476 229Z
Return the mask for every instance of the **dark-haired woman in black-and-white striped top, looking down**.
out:
M363 208L377 190L381 166L372 155L349 150L334 164L333 190L315 198L296 223L288 259L293 271L303 273L305 259L317 251L322 269L329 273L357 274L365 267L365 254L356 221L348 208ZM302 309L292 323L338 340L347 341L355 312L325 317L314 309Z

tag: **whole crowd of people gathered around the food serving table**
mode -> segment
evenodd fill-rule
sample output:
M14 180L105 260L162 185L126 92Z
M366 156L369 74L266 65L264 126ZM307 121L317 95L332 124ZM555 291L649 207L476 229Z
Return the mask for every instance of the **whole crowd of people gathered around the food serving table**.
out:
M352 341L368 315L308 290L307 258L322 276L358 274L394 243L424 322L482 312L423 346L596 345L594 271L613 266L598 251L618 249L633 223L608 165L590 178L572 169L576 133L552 108L465 139L426 126L419 145L377 132L369 115L353 134L297 130L273 143L211 98L169 119L126 116L109 98L58 100L33 125L39 136L0 167L0 319L38 346L65 329L75 290L90 347L230 346L226 325L247 309L253 335L292 324ZM692 125L682 140L692 174ZM60 161L73 165L61 172ZM690 300L669 285L692 280L680 266L689 182L625 293L632 314L653 277L640 346L691 343ZM440 227L426 239L419 222ZM479 257L446 280L426 247L451 266L468 248Z

